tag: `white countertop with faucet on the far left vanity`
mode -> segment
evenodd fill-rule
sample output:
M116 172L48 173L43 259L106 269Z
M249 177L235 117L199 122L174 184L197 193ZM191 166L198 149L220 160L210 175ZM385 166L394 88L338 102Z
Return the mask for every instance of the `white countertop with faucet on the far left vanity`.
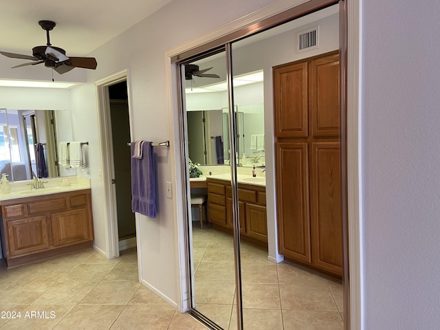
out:
M67 182L63 179L67 179ZM56 177L41 179L45 188L31 189L33 180L11 182L11 190L4 194L0 190L0 202L8 199L24 198L31 196L57 194L73 190L83 190L90 188L90 180L86 177Z

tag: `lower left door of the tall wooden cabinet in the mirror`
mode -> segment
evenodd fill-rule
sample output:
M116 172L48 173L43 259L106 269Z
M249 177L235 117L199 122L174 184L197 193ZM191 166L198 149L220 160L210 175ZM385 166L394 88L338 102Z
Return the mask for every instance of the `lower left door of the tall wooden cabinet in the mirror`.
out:
M306 142L276 143L276 208L281 254L311 262Z

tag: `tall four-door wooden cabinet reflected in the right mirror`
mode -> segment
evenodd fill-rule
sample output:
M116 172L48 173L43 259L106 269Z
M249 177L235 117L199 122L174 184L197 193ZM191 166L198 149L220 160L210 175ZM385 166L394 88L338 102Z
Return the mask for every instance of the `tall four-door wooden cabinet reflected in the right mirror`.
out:
M280 252L342 275L339 72L338 52L274 67L274 118Z

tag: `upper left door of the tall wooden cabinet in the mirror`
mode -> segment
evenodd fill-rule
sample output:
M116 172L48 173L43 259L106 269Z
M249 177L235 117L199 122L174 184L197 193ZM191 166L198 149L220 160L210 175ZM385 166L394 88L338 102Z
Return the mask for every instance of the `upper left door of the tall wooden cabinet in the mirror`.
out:
M274 68L274 120L277 137L307 137L307 62Z

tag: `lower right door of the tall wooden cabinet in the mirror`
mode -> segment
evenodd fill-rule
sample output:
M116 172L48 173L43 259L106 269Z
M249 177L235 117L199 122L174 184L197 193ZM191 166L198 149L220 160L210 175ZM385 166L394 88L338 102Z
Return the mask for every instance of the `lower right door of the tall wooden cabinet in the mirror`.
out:
M342 197L339 142L311 144L312 264L342 275Z

